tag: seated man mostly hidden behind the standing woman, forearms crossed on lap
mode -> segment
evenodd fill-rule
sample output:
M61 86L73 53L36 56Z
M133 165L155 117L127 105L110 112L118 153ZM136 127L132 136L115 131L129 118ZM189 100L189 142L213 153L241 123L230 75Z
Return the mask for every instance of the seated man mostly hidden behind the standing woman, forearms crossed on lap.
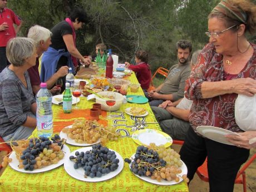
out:
M201 50L197 50L191 57L190 66L194 67L197 57ZM151 107L155 114L161 129L170 135L173 139L184 140L186 132L190 128L189 112L192 105L191 100L184 96L178 101L171 102L170 100L163 102L158 107Z

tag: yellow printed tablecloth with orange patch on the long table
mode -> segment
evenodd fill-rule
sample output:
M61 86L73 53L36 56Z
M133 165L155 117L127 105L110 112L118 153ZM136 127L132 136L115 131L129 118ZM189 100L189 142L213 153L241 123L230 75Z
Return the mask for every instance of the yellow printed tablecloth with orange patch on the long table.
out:
M131 83L137 83L136 76L132 73L129 79ZM143 95L143 91L140 90L136 93L128 92L132 95ZM53 130L54 132L60 132L60 130L71 125L77 118L85 118L88 116L88 110L92 107L93 101L87 101L86 97L80 97L81 101L77 104L81 110L72 110L71 114L63 114L62 106L52 105L53 109ZM149 115L145 117L147 122L155 121L155 116L152 113L149 104L131 104L127 103L121 106L119 111L124 111L127 107L140 105L145 107L149 112ZM106 113L105 113L106 115ZM125 120L127 125L134 125L134 120L131 120L130 115L125 114ZM112 120L109 121L112 124ZM120 122L125 124L125 122ZM158 124L149 124L149 129L161 130ZM132 135L131 128L125 126L119 126L117 129L126 129L129 131L129 135ZM36 131L35 131L36 132ZM124 131L120 132L121 135L125 135ZM68 145L71 151L79 149L79 147ZM122 137L119 141L109 141L107 147L119 152L119 154L125 159L130 157L136 151L137 144L131 139L131 137ZM176 185L164 186L147 183L144 180L137 178L131 173L129 165L125 163L124 169L121 173L112 179L98 182L88 183L73 179L68 175L63 166L56 169L47 171L45 173L27 174L13 170L10 166L4 170L4 173L0 177L0 191L188 191L188 185L181 181Z

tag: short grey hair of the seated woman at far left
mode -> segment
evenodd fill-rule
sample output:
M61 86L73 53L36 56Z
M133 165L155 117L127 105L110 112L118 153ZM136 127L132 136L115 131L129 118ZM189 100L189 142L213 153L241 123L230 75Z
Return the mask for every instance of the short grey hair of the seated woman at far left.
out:
M36 43L32 38L16 37L8 41L6 56L13 66L23 66L25 60L33 55L36 50Z

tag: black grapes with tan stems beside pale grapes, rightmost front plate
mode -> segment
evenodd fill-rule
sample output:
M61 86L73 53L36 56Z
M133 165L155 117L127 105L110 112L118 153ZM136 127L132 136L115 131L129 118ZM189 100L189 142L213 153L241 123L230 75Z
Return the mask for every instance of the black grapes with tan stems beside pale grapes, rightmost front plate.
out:
M166 165L166 161L159 158L156 151L145 146L138 146L132 161L125 159L126 163L131 163L130 170L139 176L151 176L160 171Z

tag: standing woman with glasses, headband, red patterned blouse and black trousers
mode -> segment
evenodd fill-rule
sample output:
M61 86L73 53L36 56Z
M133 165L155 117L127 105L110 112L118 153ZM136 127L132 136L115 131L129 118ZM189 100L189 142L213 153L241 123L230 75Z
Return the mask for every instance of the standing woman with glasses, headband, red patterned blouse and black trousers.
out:
M180 157L190 180L208 157L210 191L232 192L238 170L249 157L248 135L235 122L234 108L238 94L256 93L256 45L245 36L256 31L255 10L249 0L220 1L208 16L209 44L186 80L185 96L193 100L189 114L193 129L186 134ZM198 126L237 132L248 148L242 141L227 145L207 139L196 132Z

